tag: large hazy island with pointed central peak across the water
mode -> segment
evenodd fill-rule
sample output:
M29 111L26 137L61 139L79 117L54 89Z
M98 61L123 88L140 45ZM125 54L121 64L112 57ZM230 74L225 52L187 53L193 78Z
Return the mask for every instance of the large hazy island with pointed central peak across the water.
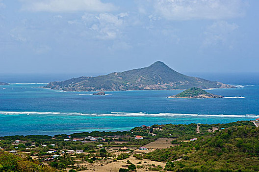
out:
M62 82L51 82L45 87L65 91L114 91L188 89L194 86L202 89L234 87L183 75L161 61L156 61L152 65L140 69L113 72L97 77L79 77Z

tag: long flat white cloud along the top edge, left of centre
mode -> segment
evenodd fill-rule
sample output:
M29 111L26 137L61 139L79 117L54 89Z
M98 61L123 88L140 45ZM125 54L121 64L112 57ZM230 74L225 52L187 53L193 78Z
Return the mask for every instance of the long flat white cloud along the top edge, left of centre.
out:
M106 12L115 9L111 3L101 0L21 0L22 10L47 12Z

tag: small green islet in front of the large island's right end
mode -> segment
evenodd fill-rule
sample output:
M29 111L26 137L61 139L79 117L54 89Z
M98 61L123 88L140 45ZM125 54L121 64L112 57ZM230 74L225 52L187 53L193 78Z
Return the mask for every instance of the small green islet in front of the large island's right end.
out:
M193 98L193 99L205 99L205 98L223 98L221 95L211 94L201 88L192 87L177 94L170 95L168 98Z

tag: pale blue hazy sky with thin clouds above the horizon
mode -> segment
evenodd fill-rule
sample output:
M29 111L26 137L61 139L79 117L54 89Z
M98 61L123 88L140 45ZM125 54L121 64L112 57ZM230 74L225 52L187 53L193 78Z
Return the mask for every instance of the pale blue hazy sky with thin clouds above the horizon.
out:
M259 72L259 0L0 0L0 74Z

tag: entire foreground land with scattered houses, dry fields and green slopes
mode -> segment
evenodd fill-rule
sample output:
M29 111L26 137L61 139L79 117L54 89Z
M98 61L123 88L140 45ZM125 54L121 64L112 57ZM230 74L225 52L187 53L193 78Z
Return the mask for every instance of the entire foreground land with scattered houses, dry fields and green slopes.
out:
M190 142L193 138L198 140ZM0 172L253 172L259 170L258 138L250 121L5 136L0 137Z

